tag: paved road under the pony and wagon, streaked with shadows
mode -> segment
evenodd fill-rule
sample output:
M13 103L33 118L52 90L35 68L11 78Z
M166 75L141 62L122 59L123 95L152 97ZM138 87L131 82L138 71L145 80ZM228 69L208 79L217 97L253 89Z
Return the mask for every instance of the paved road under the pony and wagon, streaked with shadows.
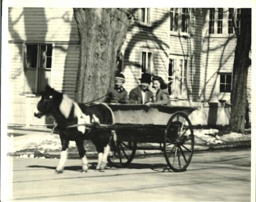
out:
M163 156L88 173L79 172L80 160L68 160L63 174L54 174L57 159L9 161L14 200L250 201L250 149L195 153L181 173L164 171Z

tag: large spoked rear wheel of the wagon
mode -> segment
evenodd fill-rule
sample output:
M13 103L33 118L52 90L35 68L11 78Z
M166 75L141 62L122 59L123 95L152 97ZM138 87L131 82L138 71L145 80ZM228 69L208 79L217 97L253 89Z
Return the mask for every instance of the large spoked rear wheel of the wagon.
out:
M194 152L194 133L186 114L177 112L169 119L164 132L164 156L175 172L185 171Z

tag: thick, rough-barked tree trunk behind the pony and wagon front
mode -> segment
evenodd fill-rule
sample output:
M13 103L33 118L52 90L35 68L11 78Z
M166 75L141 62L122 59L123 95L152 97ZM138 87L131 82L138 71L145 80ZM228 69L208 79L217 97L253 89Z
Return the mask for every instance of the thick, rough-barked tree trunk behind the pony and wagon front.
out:
M74 8L80 42L75 100L104 99L114 84L116 57L129 26L127 9Z

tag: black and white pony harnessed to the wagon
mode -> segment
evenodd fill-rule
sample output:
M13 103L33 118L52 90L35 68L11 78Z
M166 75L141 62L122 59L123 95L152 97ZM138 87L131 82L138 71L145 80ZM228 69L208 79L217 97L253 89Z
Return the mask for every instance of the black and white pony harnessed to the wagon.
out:
M111 110L105 104L87 106L71 100L51 88L45 87L41 93L41 99L37 104L37 118L43 115L52 115L55 118L55 130L59 132L61 140L60 161L56 168L56 173L62 173L68 156L69 141L75 141L79 156L82 160L82 172L88 170L88 160L83 142L86 139L92 140L98 152L98 164L96 169L103 170L107 163L110 152L111 131L92 129L86 127L89 123L112 124L113 116Z

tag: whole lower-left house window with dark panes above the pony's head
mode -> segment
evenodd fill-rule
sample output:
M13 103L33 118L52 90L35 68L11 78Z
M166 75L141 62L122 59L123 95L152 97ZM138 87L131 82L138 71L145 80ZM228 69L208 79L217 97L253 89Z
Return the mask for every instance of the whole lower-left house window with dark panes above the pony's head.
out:
M52 44L25 44L24 93L37 94L50 84Z

